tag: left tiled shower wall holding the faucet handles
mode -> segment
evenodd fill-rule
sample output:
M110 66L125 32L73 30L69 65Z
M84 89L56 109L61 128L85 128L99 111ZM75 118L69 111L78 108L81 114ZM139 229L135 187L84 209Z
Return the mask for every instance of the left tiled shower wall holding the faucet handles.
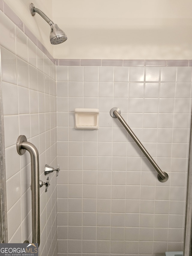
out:
M56 69L50 59L23 33L28 32L5 3L0 11L1 78L4 108L8 242L32 242L31 160L16 151L25 135L40 154L40 179L45 164L57 166ZM37 39L36 39L37 43ZM39 255L57 255L57 178L40 188L41 243Z

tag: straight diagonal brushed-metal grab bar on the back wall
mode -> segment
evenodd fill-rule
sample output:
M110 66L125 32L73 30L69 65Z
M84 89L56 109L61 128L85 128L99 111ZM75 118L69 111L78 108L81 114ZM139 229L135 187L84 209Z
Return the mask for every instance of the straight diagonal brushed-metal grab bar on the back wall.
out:
M110 115L119 120L119 122L123 125L123 127L128 132L128 134L131 136L131 138L134 140L134 142L137 144L137 146L141 149L143 154L149 160L150 164L152 164L154 169L158 172L158 180L161 182L166 182L169 178L168 174L166 172L163 172L159 168L157 163L153 160L152 156L149 154L149 152L146 150L146 148L143 146L143 144L140 142L140 140L137 138L137 136L134 134L134 132L131 130L129 125L125 122L125 120L122 118L120 114L121 114L121 110L118 107L113 107L110 111Z

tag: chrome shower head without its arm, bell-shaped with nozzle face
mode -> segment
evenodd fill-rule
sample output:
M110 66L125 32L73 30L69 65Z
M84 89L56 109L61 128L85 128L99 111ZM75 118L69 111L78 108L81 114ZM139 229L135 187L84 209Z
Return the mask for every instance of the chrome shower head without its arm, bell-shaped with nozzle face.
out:
M59 29L57 24L51 24L50 42L51 44L61 44L67 40L65 33Z

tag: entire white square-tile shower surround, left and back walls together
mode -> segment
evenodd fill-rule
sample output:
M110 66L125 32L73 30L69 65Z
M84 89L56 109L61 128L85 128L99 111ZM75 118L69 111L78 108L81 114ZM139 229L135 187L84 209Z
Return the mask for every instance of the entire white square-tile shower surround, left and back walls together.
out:
M40 152L40 179L57 155L62 169L46 194L41 188L41 255L57 255L57 235L59 256L182 250L192 62L56 60L56 95L52 57L2 0L0 9L14 22L0 11L9 242L32 240L30 159L15 147L24 134ZM74 129L76 107L99 108L98 131ZM169 174L166 183L112 107Z

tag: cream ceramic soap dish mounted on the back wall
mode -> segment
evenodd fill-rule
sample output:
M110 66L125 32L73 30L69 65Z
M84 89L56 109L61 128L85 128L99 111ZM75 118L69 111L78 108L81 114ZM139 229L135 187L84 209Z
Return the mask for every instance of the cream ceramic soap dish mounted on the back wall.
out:
M75 108L74 113L75 129L99 129L99 110L97 108Z

